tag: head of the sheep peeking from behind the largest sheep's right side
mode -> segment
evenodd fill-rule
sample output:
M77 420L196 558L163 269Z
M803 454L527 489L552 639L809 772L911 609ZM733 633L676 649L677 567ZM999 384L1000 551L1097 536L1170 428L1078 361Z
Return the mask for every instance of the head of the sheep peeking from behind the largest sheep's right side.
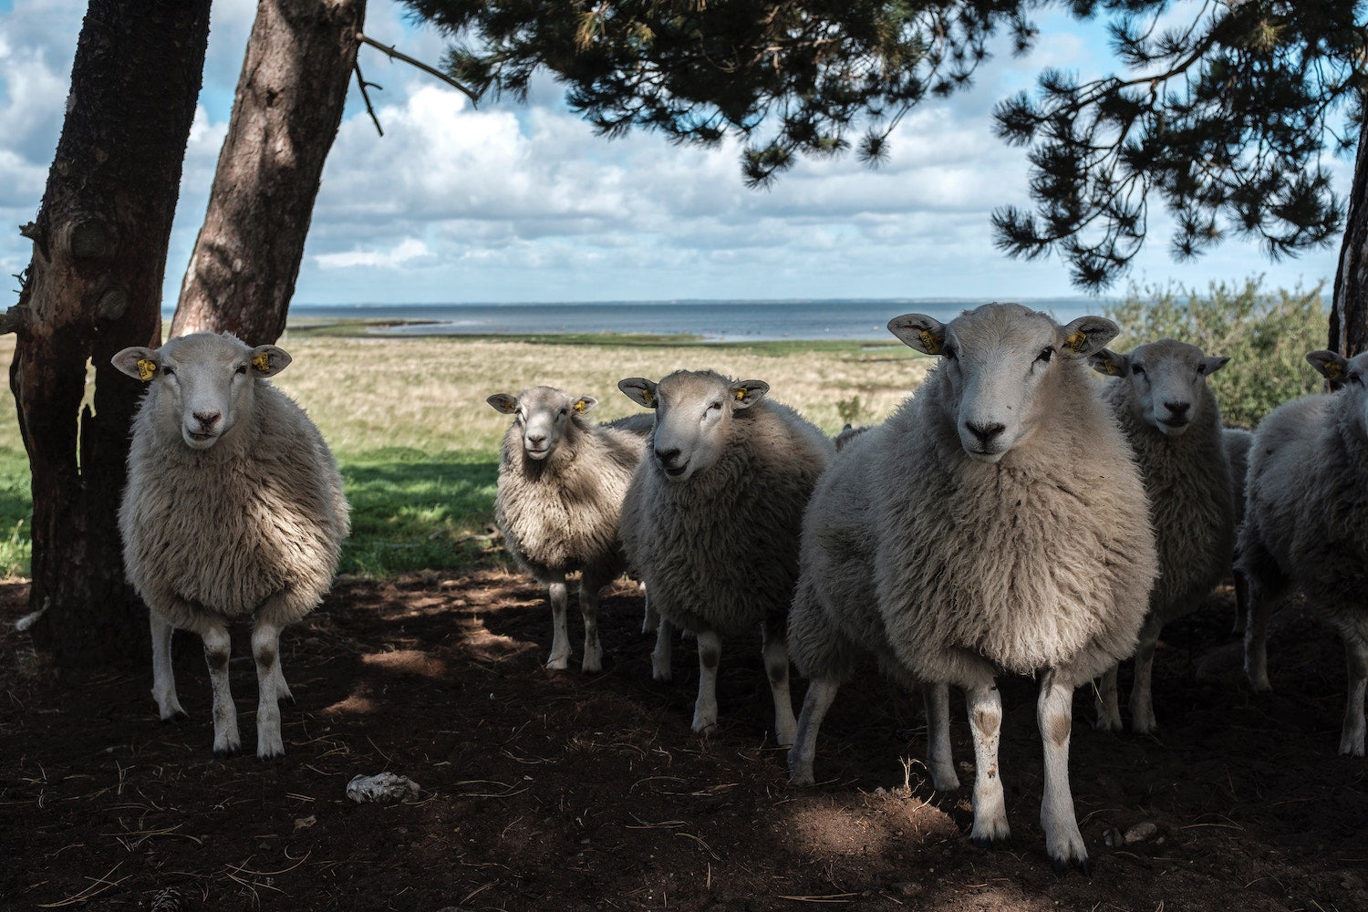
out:
M1230 361L1176 339L1149 342L1127 354L1103 349L1088 360L1099 373L1129 383L1140 417L1171 438L1192 427L1207 401L1207 377Z

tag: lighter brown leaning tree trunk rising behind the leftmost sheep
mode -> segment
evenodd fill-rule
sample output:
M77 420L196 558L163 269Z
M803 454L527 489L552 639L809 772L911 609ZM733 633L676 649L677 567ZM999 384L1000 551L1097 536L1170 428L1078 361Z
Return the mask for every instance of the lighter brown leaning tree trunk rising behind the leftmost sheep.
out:
M260 0L171 335L275 342L300 275L365 0Z

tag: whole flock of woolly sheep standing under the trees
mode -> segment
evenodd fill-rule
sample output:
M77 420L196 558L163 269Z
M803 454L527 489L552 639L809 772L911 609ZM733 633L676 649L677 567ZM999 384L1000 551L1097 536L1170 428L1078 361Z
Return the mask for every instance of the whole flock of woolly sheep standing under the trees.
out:
M889 330L940 364L886 421L836 440L766 383L711 371L621 380L647 412L606 424L588 417L588 395L491 395L514 416L495 518L549 587L547 667L572 655L566 576L580 574L580 667L594 673L599 592L628 572L657 629L654 675L669 678L677 630L698 643L692 727L706 733L718 718L722 639L759 630L774 738L791 745L796 785L813 782L818 729L841 684L873 658L922 692L932 783L958 788L955 685L969 710L979 844L1008 837L996 680L1034 675L1045 848L1056 870L1086 870L1068 783L1074 690L1096 680L1096 723L1119 729L1118 666L1133 659L1130 726L1155 730L1160 630L1234 569L1254 688L1270 686L1268 615L1283 592L1305 592L1341 632L1339 749L1363 756L1368 354L1309 354L1337 391L1280 406L1250 436L1222 427L1207 384L1227 358L1172 339L1115 353L1105 346L1119 330L1101 317L1060 325L993 304L944 324L906 314ZM150 608L153 695L163 718L182 712L171 629L200 633L220 756L241 749L226 625L253 623L257 756L278 756L276 703L290 693L279 633L323 598L347 535L331 454L265 381L289 361L275 346L208 334L114 361L148 384L120 531L129 578ZM808 680L798 716L791 662Z

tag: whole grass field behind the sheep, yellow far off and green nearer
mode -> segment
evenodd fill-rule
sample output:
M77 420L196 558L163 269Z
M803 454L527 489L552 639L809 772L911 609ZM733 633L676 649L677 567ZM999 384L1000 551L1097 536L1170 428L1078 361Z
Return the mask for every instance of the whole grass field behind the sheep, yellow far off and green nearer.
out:
M387 577L502 561L487 532L509 418L484 399L544 383L599 401L594 417L639 412L617 381L677 368L761 379L829 433L888 416L930 358L886 343L718 345L688 336L375 336L361 324L297 324L276 386L332 446L352 503L342 572ZM0 357L12 353L5 338ZM0 416L0 573L29 561L29 464L12 405Z

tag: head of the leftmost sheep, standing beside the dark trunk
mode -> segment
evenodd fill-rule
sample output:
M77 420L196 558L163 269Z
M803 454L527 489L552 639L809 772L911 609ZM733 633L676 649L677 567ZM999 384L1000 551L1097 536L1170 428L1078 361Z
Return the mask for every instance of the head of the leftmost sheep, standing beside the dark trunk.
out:
M233 432L252 407L257 379L290 364L285 349L254 349L227 332L196 332L160 349L134 346L114 356L114 366L149 384L145 407L175 423L192 450L208 450Z

